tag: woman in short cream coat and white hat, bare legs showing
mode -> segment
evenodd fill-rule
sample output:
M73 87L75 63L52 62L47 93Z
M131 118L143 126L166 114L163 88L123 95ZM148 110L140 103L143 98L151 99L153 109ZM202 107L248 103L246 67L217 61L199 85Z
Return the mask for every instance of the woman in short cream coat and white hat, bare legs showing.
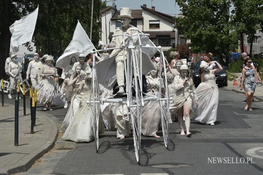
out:
M196 95L195 85L187 65L182 65L180 75L175 76L175 94L173 102L170 104L170 112L178 114L178 123L181 130L181 135L185 135L183 130L183 116L185 117L186 136L191 136L190 130L190 115L193 115L192 104L195 101L198 106L198 98Z

